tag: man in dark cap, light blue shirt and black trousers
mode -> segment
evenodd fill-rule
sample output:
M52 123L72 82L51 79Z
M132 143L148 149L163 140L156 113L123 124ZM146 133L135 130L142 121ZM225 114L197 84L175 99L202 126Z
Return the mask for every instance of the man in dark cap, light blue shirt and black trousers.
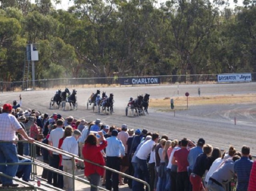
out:
M106 166L114 170L120 171L121 158L125 156L124 145L117 138L118 131L113 130L111 137L107 138L108 146L106 147ZM106 170L106 189L118 191L118 174Z

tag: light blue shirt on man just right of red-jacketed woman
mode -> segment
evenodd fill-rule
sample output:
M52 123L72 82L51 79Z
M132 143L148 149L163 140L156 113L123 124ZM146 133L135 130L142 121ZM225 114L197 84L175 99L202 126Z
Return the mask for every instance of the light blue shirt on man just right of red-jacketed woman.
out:
M106 156L108 157L120 157L125 156L124 145L116 136L111 136L106 139L108 146L106 147Z

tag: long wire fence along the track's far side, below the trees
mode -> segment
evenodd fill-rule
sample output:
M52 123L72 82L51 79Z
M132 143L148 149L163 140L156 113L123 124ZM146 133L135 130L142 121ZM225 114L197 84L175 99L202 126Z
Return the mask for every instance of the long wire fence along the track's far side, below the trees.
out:
M256 73L252 74L252 81L256 81ZM202 74L202 75L159 75L159 76L140 76L145 78L158 78L161 84L204 84L217 83L218 74ZM124 79L133 78L127 77L98 77L98 78L68 78L68 79L40 79L35 80L35 89L58 89L64 87L100 87L121 85ZM136 76L138 78L138 76ZM26 90L32 89L32 81L26 82ZM3 82L0 81L0 91L21 91L24 81Z

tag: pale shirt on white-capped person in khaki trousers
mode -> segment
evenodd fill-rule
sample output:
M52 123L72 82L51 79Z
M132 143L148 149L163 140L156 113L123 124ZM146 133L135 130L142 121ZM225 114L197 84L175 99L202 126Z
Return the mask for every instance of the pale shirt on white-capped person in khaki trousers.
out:
M73 136L66 137L63 141L63 144L61 146L62 150L72 153L74 155L78 155L78 142L76 138ZM67 157L65 155L62 155L63 159L70 159L70 157Z

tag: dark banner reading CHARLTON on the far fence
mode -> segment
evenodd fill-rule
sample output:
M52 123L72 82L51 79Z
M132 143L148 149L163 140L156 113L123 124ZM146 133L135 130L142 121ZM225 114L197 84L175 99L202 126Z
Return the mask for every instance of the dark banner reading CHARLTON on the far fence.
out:
M144 77L144 78L120 78L121 85L136 85L136 84L160 84L159 77Z

